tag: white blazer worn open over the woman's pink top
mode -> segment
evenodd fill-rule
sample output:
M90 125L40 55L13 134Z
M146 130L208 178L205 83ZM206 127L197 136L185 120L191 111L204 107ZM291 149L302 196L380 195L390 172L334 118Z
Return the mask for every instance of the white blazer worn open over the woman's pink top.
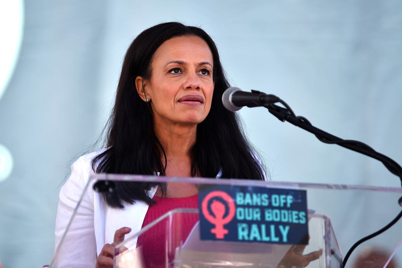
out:
M66 230L77 202L84 190L89 177L94 172L91 160L103 150L83 155L71 166L71 175L60 190L59 205L57 207L55 228L55 249ZM217 178L222 172L219 171ZM157 187L148 192L152 198ZM57 252L55 267L94 267L96 258L106 243L113 243L115 231L121 227L130 227L131 232L137 233L142 227L148 204L137 201L134 205L127 205L125 209L112 209L106 205L103 196L88 187L81 204L78 207L74 220L64 238L61 248ZM136 239L130 248L137 243Z

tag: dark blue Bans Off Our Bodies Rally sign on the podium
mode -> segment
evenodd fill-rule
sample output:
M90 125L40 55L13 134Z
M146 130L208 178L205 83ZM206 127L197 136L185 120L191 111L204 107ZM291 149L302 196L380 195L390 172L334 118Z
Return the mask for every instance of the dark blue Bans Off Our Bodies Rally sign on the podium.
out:
M201 240L308 243L305 190L200 185Z

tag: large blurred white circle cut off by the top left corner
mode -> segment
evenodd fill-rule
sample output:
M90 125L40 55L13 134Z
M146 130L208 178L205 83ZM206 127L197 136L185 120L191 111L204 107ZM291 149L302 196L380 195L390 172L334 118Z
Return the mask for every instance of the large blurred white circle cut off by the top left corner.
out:
M24 27L23 0L0 1L0 99L14 72Z

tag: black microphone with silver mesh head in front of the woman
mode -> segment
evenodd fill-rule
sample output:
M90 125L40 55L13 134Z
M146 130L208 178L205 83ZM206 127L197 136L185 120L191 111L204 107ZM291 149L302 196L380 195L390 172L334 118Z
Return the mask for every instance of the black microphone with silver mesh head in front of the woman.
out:
M265 104L273 104L279 102L279 98L272 94L265 94L264 92L259 92L258 90L251 90L251 92L242 91L240 88L231 87L225 90L222 95L222 103L225 108L236 112L247 107L259 107Z

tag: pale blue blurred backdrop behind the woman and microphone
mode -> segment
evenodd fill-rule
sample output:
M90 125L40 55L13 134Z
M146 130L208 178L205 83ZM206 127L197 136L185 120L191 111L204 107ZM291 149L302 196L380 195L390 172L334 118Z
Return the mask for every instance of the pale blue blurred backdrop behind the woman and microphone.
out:
M397 0L26 1L21 54L0 100L0 143L14 158L0 183L3 266L49 263L70 160L98 137L129 43L161 22L205 29L232 86L275 94L313 125L401 163L401 10ZM400 186L376 160L264 108L240 114L274 181ZM365 210L359 200L334 205Z

